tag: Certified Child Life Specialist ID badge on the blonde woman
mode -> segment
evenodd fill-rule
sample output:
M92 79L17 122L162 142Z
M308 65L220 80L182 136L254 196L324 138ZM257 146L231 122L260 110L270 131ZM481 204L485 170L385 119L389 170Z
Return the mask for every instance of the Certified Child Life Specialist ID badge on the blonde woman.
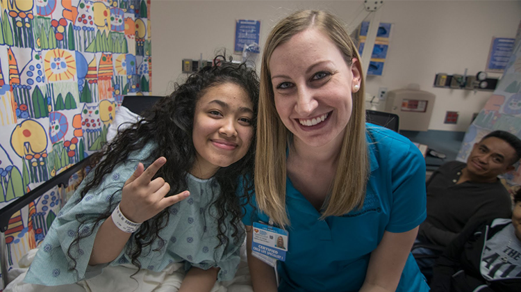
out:
M288 232L284 229L254 222L251 250L279 261L286 261Z

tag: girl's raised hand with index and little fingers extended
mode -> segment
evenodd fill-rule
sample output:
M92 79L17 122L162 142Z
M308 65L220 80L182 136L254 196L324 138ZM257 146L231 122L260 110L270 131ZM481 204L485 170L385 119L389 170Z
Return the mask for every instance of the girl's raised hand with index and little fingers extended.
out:
M188 190L185 190L177 195L165 197L170 190L170 185L161 177L151 180L166 162L167 159L162 156L147 170L144 170L143 164L139 163L133 175L125 181L119 209L127 219L142 223L190 195Z

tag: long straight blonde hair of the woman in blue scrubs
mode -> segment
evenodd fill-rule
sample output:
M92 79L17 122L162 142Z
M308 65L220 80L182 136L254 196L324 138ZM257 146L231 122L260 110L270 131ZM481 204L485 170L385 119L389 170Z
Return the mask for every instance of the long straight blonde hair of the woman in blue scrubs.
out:
M344 26L335 16L324 11L303 10L292 13L274 26L268 35L261 63L261 91L258 104L257 145L255 158L255 193L258 209L281 227L289 225L286 213L286 147L291 132L286 129L274 103L270 58L279 44L306 29L320 29L342 52L349 67L358 51ZM358 63L358 70L361 67ZM369 160L365 141L364 82L352 93L352 115L347 123L338 167L330 193L326 197L322 219L341 216L363 205Z

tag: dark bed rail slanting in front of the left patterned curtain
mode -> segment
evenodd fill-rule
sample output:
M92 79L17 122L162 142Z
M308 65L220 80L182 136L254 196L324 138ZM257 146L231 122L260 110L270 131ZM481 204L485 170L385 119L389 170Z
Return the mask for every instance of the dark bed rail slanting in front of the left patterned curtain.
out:
M47 192L47 190L50 190L55 186L63 186L64 188L66 188L69 185L70 177L74 175L74 173L76 173L78 170L81 170L83 166L87 165L89 160L90 156L85 157L85 159L74 164L71 168L67 168L67 170L60 172L58 175L56 175L56 177L53 177L52 179L45 181L43 184L37 186L34 190L31 190L29 193L26 193L22 197L19 197L14 202L6 206L3 206L3 208L0 209L0 232L3 233L7 231L9 220L14 213L22 209L30 202L36 200L37 197L43 195L45 192Z

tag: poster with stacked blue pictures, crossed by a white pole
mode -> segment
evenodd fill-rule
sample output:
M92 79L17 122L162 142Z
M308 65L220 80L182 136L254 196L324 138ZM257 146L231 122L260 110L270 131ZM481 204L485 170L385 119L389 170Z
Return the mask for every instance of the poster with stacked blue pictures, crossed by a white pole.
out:
M377 39L374 40L371 60L367 69L367 75L381 76L383 65L386 62L387 51L389 49L389 39L392 24L380 23L378 26ZM362 54L369 30L369 22L362 22L358 33L358 54Z

